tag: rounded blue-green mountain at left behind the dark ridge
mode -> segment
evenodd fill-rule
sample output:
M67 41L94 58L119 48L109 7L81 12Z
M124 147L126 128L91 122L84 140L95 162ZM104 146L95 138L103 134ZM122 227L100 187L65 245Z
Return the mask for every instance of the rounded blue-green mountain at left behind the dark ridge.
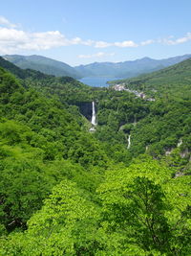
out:
M24 69L34 69L45 74L53 75L56 77L72 77L79 79L81 76L70 65L54 60L52 58L46 58L42 56L19 56L19 55L6 55L3 58L11 61L13 64Z

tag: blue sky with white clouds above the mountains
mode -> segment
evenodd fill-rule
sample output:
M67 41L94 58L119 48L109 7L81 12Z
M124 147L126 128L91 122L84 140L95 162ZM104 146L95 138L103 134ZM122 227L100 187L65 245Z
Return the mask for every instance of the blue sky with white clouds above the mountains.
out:
M72 66L191 54L191 0L2 0L0 56Z

